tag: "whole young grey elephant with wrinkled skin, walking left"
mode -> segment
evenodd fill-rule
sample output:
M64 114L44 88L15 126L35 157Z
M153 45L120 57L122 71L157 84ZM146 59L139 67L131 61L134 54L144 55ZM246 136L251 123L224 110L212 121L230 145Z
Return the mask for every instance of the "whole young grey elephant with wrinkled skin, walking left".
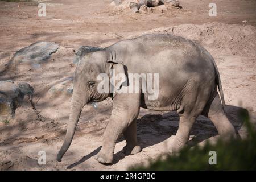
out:
M142 93L98 93L97 76L100 73L109 74L110 68L126 75L159 73L158 99L148 100L148 95ZM131 84L123 84L122 88L126 86ZM100 163L113 162L115 143L121 134L127 143L123 148L125 154L141 151L136 133L140 107L158 111L177 110L180 124L170 146L172 152L179 151L188 142L189 132L199 114L210 118L218 133L225 138L236 137L234 127L224 114L220 76L209 52L184 38L148 34L123 40L81 57L75 71L67 134L57 155L58 161L61 161L71 144L82 107L89 102L103 101L109 96L113 98L113 111L104 133L101 151L95 157Z

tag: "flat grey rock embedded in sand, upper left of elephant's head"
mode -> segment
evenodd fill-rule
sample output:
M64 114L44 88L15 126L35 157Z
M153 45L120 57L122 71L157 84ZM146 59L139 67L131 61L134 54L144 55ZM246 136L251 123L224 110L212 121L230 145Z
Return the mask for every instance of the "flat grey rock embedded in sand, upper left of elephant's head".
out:
M36 42L17 51L11 61L17 65L20 63L31 64L32 68L40 68L40 63L49 59L55 53L59 45L54 42Z

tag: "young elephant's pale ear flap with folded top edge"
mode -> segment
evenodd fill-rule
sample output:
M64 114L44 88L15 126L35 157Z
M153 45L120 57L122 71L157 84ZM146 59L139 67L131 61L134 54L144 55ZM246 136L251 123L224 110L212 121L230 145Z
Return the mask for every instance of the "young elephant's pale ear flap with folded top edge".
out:
M125 67L121 61L111 59L107 62L110 64L110 93L112 94L112 98L114 98L127 82L127 76L125 74Z

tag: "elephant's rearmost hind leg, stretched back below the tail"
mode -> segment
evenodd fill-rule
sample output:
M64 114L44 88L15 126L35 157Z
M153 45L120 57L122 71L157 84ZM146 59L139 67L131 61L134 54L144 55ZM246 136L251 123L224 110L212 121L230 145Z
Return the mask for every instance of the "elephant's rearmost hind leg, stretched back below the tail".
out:
M208 117L218 130L218 133L224 137L224 139L229 139L230 137L236 138L236 130L229 119L224 113L224 108L221 104L220 96L216 94L209 104L207 104L203 110L202 115Z

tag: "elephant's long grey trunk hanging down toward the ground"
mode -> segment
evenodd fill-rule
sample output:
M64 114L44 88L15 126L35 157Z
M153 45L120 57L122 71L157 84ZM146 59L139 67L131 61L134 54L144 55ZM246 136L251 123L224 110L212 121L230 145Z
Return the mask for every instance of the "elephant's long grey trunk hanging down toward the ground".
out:
M57 155L57 161L59 162L61 162L63 155L71 145L73 136L75 134L76 126L81 115L82 107L87 102L87 101L82 102L79 96L81 96L81 94L73 92L72 102L71 102L71 114L69 115L67 133L65 135L64 143Z

